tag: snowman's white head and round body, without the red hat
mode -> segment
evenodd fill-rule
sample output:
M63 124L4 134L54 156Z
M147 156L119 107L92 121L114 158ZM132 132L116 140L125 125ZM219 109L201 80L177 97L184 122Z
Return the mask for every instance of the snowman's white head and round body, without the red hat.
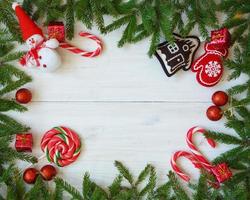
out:
M61 57L55 50L59 46L59 42L56 39L43 41L44 38L39 34L33 35L26 40L30 50L37 48L41 44L42 47L37 50L37 60L32 56L26 57L25 66L45 72L55 71L61 65Z

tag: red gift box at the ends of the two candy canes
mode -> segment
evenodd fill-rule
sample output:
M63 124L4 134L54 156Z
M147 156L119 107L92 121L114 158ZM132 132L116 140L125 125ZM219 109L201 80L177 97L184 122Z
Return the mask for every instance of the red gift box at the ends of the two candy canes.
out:
M218 182L222 183L233 176L231 170L226 163L221 163L212 168L212 172L215 175Z

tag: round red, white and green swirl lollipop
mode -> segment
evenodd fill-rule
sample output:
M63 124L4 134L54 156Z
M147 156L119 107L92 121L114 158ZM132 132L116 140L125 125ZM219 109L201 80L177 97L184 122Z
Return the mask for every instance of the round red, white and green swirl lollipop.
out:
M49 162L54 162L59 167L64 167L78 158L81 142L74 131L58 126L44 134L41 141L41 149L45 152Z

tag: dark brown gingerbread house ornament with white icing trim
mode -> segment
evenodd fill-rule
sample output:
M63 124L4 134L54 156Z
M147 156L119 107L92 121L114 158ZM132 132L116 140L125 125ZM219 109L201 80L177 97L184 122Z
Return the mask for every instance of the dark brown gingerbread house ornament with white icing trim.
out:
M195 36L182 38L174 34L175 41L168 41L158 45L155 56L168 77L173 76L177 71L190 69L195 52L200 46L200 40Z

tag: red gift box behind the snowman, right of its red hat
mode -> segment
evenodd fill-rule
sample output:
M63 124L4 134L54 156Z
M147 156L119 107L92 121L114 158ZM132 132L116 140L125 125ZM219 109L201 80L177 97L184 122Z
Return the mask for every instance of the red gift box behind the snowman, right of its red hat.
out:
M52 22L48 26L49 38L55 38L58 42L65 40L65 27L62 22Z

